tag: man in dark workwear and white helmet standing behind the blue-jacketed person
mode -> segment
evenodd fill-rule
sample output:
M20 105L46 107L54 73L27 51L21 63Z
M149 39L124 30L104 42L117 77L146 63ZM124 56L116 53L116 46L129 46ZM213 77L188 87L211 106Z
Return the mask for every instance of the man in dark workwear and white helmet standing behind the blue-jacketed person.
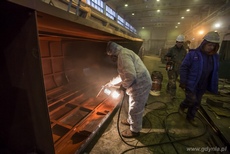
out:
M181 62L187 54L183 46L184 40L185 38L183 35L177 36L175 46L170 48L166 54L166 70L168 73L167 93L170 94L172 98L176 96L176 80L180 73L179 69Z

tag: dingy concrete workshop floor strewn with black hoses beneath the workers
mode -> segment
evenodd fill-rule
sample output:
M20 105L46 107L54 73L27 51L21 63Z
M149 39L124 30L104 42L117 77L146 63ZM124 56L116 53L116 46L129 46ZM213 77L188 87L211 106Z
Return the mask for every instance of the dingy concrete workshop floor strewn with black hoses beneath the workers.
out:
M115 116L105 124L105 131L85 150L85 154L184 154L184 153L229 153L227 147L220 141L218 135L209 127L204 118L197 114L199 127L193 127L181 117L177 110L184 99L184 92L177 88L176 99L171 100L166 93L167 75L165 64L159 57L145 56L143 58L150 72L160 71L163 82L160 96L149 95L143 116L143 129L137 138L126 139L119 132L128 129L117 120L127 116L127 101ZM230 122L230 120L228 119ZM118 132L119 130L119 132Z

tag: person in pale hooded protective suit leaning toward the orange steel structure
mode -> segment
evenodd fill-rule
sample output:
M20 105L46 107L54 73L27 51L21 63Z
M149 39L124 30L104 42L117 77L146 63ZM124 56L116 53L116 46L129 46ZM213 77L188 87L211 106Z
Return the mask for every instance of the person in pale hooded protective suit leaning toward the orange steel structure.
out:
M122 136L137 137L142 129L142 116L152 86L150 73L137 54L115 42L108 42L107 54L117 57L120 89L129 96L128 118L121 123L130 126L130 129L122 132ZM114 84L113 81L110 83Z

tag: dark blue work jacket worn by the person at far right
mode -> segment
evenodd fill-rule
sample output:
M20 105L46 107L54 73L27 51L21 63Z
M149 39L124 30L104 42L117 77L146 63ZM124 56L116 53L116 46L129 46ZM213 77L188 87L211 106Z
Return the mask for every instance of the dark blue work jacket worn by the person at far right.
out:
M198 87L198 82L202 75L203 58L201 48L204 42L197 49L190 50L182 61L180 67L180 84L186 85L186 88L194 92L201 88ZM207 90L212 93L218 92L218 69L219 69L219 55L217 53L212 55L213 71L208 80Z

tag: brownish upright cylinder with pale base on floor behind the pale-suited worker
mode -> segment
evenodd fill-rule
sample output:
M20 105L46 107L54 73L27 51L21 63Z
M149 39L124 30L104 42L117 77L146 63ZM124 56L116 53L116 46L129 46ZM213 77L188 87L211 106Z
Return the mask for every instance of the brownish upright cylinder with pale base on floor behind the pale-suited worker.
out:
M150 94L153 96L159 96L161 91L161 83L163 81L163 75L159 71L153 71L151 75L152 88Z

